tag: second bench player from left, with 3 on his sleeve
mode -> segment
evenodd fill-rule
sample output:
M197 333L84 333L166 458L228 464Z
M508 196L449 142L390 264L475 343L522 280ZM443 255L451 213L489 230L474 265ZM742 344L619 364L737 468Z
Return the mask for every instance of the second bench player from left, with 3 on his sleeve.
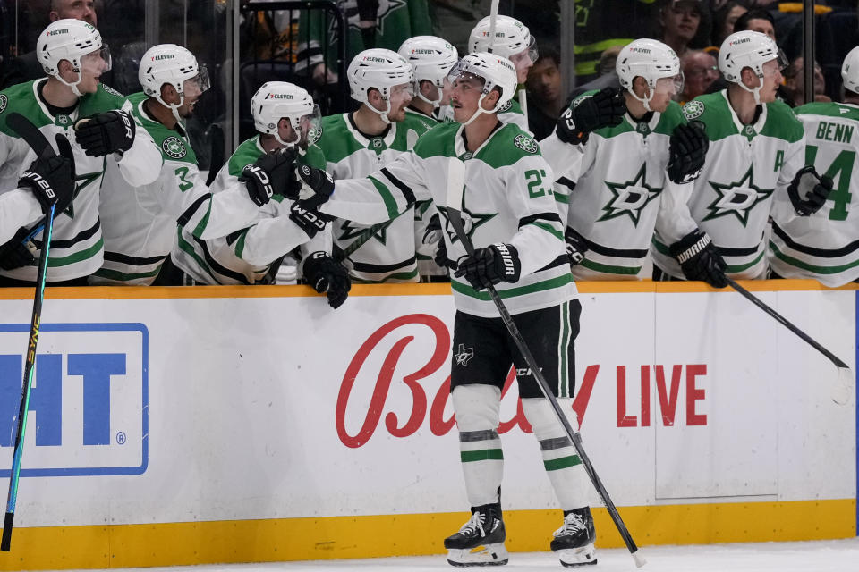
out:
M213 196L200 176L184 120L209 87L206 67L186 48L160 44L140 58L138 77L143 91L128 100L160 150L158 163L149 165L159 174L126 189L119 170L108 165L99 207L105 264L91 284L149 285L173 248L177 221L195 237L212 239L249 226L259 210L249 196L259 186L235 181Z

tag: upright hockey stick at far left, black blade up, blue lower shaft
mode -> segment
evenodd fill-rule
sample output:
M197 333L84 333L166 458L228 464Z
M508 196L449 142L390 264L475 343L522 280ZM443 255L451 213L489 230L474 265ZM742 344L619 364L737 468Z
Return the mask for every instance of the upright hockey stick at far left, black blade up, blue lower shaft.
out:
M21 139L27 141L30 147L40 157L54 154L38 128L21 114L12 113L6 118L6 124L15 130ZM58 136L59 137L59 136ZM59 140L57 141L59 143ZM68 145L68 141L66 141ZM71 147L70 147L71 150ZM26 361L24 362L24 377L21 382L21 402L18 407L18 417L15 427L15 444L12 458L12 474L9 476L9 494L6 497L6 514L3 519L3 538L0 539L0 550L10 551L12 548L12 527L15 517L15 505L18 501L18 478L21 475L21 456L24 449L24 431L27 427L27 413L30 410L30 388L33 382L33 366L36 363L36 344L38 343L38 325L41 322L42 300L45 298L45 279L47 274L47 253L51 247L51 233L54 231L54 208L45 216L45 233L42 251L38 257L38 274L36 276L36 294L33 298L33 313L30 320L30 341L27 343Z

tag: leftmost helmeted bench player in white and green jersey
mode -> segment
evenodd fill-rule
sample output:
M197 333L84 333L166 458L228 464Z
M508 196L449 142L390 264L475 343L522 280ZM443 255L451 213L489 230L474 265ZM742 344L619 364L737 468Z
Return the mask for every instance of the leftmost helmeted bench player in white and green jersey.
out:
M0 284L36 281L41 235L29 244L21 240L44 216L44 206L30 189L19 188L18 180L36 154L6 126L4 117L17 112L48 141L63 134L71 143L77 185L72 203L55 212L47 283L84 285L103 261L98 190L105 165L117 168L129 184L146 184L157 176L150 165L157 161L158 151L133 121L131 105L99 82L110 69L110 53L97 29L79 20L55 21L39 35L37 53L47 78L0 92L0 193L12 195L6 200L17 200L17 217L25 225L16 227L13 243L2 248Z

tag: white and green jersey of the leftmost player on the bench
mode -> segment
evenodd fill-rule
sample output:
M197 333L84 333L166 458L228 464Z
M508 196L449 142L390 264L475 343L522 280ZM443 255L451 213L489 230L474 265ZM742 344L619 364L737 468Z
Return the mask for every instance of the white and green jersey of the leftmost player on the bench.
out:
M77 185L72 204L55 216L47 259L47 282L62 282L88 276L102 264L104 240L98 217L98 191L102 187L106 166L116 168L123 181L145 184L155 177L149 165L157 160L158 152L149 134L140 129L138 124L134 144L122 156L86 155L75 139L72 129L74 122L81 117L115 109L130 111L131 104L114 89L99 84L96 92L78 99L78 105L71 114L54 115L38 93L39 86L45 81L47 79L33 80L0 92L0 193L23 193L31 197L30 190L17 189L17 185L21 173L36 158L30 146L6 124L8 114L17 112L29 119L55 149L57 134L63 134L69 139ZM122 192L124 188L115 190ZM35 225L42 217L37 204L30 209L26 224ZM38 248L41 247L41 240L34 242ZM37 265L34 264L0 270L0 275L35 282L37 272Z

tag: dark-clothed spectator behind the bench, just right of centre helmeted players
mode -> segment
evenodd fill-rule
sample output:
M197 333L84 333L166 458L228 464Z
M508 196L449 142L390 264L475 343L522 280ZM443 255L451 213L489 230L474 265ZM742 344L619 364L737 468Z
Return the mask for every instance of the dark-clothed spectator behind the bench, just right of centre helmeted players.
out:
M564 110L560 64L557 52L544 48L528 71L528 127L536 139L549 136Z

